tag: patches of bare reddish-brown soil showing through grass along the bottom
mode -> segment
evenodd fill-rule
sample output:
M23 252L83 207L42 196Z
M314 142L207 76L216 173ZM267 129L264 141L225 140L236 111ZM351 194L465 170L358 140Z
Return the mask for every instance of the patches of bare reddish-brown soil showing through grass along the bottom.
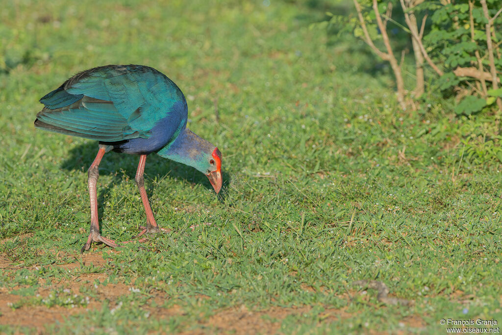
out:
M69 264L60 265L67 269L73 269L80 266L79 260L82 260L84 265L90 263L98 267L106 263L102 258L101 252L88 253L84 255L75 255L76 261ZM13 266L12 263L3 255L0 254L0 271L6 269L21 269L21 267ZM73 293L78 293L82 286L92 286L93 290L97 290L99 296L109 301L109 305L113 306L116 299L124 294L130 293L131 285L126 284L108 284L106 286L94 286L94 281L98 279L100 282L106 279L105 273L83 274L79 276L79 282L71 280L62 280L57 284L48 287L41 285L36 294L42 297L48 296L51 290L61 288L70 290ZM44 284L42 281L40 284ZM18 289L21 287L16 287ZM308 288L307 288L308 289ZM0 288L0 324L25 326L36 328L38 333L46 333L47 325L54 324L55 322L63 322L64 319L73 314L83 313L86 310L100 309L102 301L90 299L87 306L66 308L62 306L48 307L45 305L24 305L20 308L12 308L11 303L16 303L24 297L11 293L12 290L7 288ZM155 294L155 293L152 293ZM157 305L162 305L168 297L163 296L162 292L157 293L158 296L153 297L153 301ZM350 299L350 295L358 294L357 291L345 293L345 298ZM384 307L385 308L385 307ZM170 308L156 307L146 309L150 312L150 317L162 319L172 318L176 315L182 315L184 310L178 305ZM216 329L218 333L236 333L236 334L253 334L253 333L278 333L282 321L289 315L298 315L308 313L312 309L311 306L289 307L283 308L273 306L268 309L249 310L245 305L234 306L230 308L220 309L209 318L201 318L198 323L203 325L203 329ZM339 319L348 319L352 317L345 308L335 309L326 308L321 315L322 322L330 322ZM425 322L420 316L409 316L402 322L413 328L422 328ZM186 334L202 334L204 330L187 331Z

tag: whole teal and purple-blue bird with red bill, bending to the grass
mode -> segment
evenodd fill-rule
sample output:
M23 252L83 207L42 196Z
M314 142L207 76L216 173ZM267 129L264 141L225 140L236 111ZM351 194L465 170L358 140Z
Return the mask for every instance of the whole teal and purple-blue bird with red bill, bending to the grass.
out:
M39 101L44 108L37 114L35 128L98 141L97 155L87 170L91 222L81 253L92 243L118 246L99 233L96 185L99 163L109 151L140 156L135 181L147 223L137 237L169 232L157 224L145 190L143 173L149 154L192 166L208 177L216 193L221 189L221 152L187 128L188 105L183 92L152 67L94 67L75 74Z

